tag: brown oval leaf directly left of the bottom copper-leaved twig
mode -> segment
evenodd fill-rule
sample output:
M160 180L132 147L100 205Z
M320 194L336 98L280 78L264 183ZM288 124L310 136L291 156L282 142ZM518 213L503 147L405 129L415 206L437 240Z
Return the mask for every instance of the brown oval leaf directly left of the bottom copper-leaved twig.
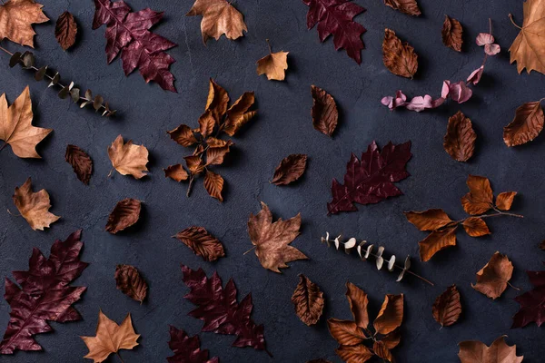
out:
M304 275L299 275L299 283L293 291L292 303L295 305L295 314L309 327L316 324L322 317L323 292L318 285Z

